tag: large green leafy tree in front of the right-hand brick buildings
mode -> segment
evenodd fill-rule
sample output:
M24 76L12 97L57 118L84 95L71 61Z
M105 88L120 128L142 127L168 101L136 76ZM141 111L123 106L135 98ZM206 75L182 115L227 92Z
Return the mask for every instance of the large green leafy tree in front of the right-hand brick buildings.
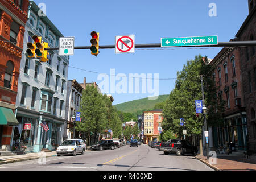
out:
M202 100L200 75L203 75L205 106L208 109L208 126L213 126L221 118L221 102L217 98L212 70L205 57L196 56L195 60L187 61L181 71L177 72L175 88L171 91L163 109L164 130L182 135L184 126L180 126L180 118L184 118L187 134L201 134L204 122L203 114L196 117L195 100ZM217 111L217 112L216 112Z

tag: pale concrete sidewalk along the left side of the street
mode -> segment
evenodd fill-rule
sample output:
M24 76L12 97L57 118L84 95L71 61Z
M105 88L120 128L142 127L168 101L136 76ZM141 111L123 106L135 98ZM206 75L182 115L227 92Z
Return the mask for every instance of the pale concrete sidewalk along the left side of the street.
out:
M88 148L86 151L90 151ZM46 155L46 157L57 156L56 151L44 152L44 154ZM0 156L0 165L7 164L7 163L21 162L24 160L33 160L33 159L38 159L40 157L42 157L42 153L40 152L28 153L28 154L22 154L22 155Z

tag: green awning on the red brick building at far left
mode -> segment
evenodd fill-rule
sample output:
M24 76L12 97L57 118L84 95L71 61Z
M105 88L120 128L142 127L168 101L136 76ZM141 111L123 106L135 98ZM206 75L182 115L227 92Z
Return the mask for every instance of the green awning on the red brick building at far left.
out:
M13 110L5 107L0 107L0 125L19 125L18 120L15 118Z

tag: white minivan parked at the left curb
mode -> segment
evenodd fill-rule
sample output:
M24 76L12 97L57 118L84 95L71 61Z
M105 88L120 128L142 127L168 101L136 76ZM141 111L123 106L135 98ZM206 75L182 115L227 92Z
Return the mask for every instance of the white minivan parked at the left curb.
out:
M60 155L76 155L77 153L85 154L86 143L82 139L68 139L64 140L59 147L57 147L57 156Z

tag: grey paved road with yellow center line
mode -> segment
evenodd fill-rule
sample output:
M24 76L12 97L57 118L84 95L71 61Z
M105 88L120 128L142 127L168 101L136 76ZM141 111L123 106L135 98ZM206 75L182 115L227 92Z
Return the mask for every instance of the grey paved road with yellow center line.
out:
M123 146L115 150L87 151L76 156L52 156L3 164L0 171L212 171L193 156L164 155L163 151L148 145Z

